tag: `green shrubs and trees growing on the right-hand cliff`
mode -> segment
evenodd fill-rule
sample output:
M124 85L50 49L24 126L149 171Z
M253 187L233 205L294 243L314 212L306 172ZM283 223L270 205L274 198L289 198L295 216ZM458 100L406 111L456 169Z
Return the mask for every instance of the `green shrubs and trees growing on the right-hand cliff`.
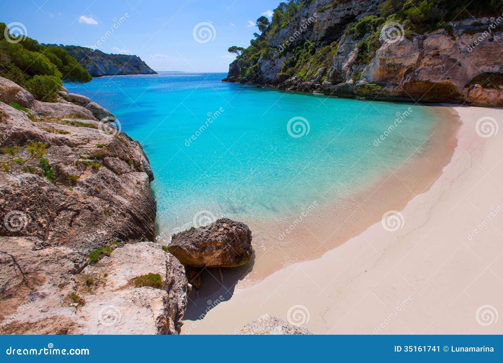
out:
M229 51L237 54L229 70L229 77L240 78L251 82L261 82L262 74L259 60L271 60L273 57L286 57L278 73L281 78L297 76L304 80L317 74L319 68L325 68L325 77L330 69L333 56L336 54L339 38L342 35L351 36L357 41L358 49L355 64L363 65L370 62L375 52L381 46L380 32L390 22L399 23L405 36L421 34L436 29L446 29L452 36L452 27L448 23L471 17L500 16L503 13L503 0L488 0L485 2L472 0L384 0L378 3L376 11L364 12L368 16L357 21L349 20L343 24L338 37L311 37L313 29L319 27L320 14L330 18L330 12L344 12L350 7L349 0L330 0L319 5L315 0L290 0L282 2L274 10L272 20L257 20L261 34L255 33L255 39L250 41L246 49L230 47ZM354 2L353 2L354 3ZM353 4L351 6L358 6ZM363 0L362 0L363 3ZM380 3L380 4L379 4ZM371 2L374 6L374 2ZM309 7L309 12L305 11ZM318 16L314 16L314 12ZM301 14L299 14L301 13ZM309 13L309 14L308 14ZM334 15L335 16L335 15ZM299 22L302 17L302 23ZM310 21L313 17L312 21ZM308 19L306 19L308 18ZM348 18L351 18L348 16ZM297 24L289 32L280 31L290 24ZM300 29L299 26L303 29ZM295 35L295 33L298 33ZM299 34L302 34L301 36ZM278 39L280 37L285 39ZM319 34L319 31L318 31ZM336 39L337 38L337 39ZM271 44L281 46L272 47ZM231 72L231 70L233 72ZM238 72L238 74L237 74ZM232 73L232 74L231 74Z

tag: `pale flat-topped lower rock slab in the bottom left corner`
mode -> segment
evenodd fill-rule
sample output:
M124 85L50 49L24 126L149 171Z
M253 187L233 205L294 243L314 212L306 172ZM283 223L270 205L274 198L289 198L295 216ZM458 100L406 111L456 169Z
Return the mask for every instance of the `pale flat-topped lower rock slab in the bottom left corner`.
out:
M178 334L189 285L160 245L125 245L88 264L65 247L38 250L33 237L0 237L3 334ZM112 246L111 249L114 247ZM75 261L76 260L76 261ZM158 274L157 288L134 283Z

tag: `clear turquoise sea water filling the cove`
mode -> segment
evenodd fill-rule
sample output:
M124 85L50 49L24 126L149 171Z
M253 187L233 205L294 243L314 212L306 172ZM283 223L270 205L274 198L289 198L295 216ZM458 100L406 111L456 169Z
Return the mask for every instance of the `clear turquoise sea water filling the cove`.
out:
M194 216L204 219L201 211L274 222L313 201L329 205L428 148L437 122L428 107L282 92L223 77L165 72L65 84L111 110L143 146L161 237L190 227ZM309 129L291 123L303 136L288 132L292 117L307 120Z

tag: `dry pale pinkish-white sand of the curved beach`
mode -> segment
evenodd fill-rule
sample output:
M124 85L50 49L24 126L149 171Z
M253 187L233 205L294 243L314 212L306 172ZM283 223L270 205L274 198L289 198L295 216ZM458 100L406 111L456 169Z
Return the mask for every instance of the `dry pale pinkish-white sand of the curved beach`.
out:
M182 333L229 334L262 314L315 334L503 333L496 324L503 311L503 133L493 121L503 110L449 110L462 125L450 163L431 186L410 190L387 222L316 260L204 296L204 318L188 314Z

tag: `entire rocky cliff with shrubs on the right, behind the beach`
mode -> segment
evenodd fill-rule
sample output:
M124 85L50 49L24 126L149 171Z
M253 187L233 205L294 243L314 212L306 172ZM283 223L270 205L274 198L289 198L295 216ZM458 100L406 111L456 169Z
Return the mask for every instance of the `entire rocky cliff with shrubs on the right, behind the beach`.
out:
M503 106L502 2L293 3L280 4L268 28L230 64L224 81Z

